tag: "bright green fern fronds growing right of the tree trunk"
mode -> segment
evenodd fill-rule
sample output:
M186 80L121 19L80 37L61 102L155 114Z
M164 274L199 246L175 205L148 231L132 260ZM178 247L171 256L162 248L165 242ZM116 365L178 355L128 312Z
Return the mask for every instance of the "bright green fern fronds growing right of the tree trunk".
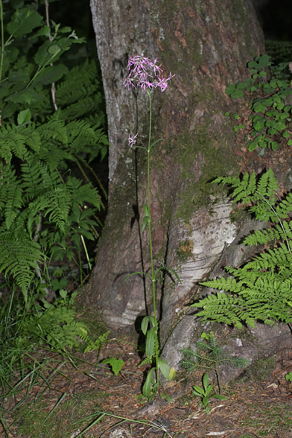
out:
M242 328L242 323L255 327L256 320L266 324L291 323L292 230L288 216L292 211L291 194L276 203L277 182L271 169L256 185L254 174L251 177L246 174L242 186L237 178L216 181L231 184L234 202L252 203L249 210L256 214L257 220L269 221L271 228L256 231L243 242L268 245L264 252L242 268L226 268L232 277L225 279L222 276L201 283L220 292L207 295L194 304L193 307L202 308L197 315L203 320L234 324L238 329Z

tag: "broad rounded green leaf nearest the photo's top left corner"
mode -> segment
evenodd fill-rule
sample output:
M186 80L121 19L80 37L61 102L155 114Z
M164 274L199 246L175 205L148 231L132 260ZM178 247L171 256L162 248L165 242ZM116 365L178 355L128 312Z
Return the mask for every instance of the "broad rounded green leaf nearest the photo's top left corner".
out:
M42 16L29 8L17 10L7 24L7 31L13 37L23 37L41 25Z

